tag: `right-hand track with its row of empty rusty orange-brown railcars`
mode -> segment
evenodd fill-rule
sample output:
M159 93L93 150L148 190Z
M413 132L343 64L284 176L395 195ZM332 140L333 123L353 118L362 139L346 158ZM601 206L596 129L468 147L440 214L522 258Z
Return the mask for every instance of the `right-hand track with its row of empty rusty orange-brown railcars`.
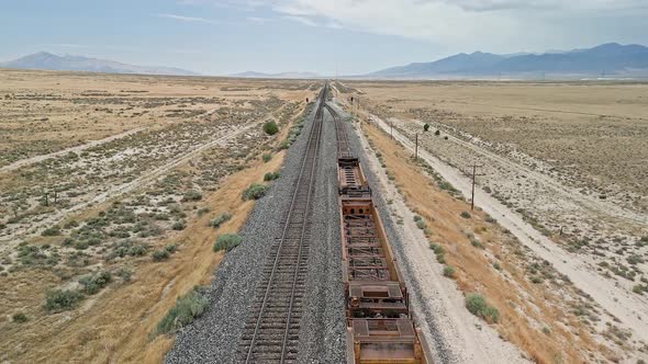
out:
M414 326L407 287L373 203L359 159L344 123L335 121L337 177L347 317L348 364L432 363L424 338Z

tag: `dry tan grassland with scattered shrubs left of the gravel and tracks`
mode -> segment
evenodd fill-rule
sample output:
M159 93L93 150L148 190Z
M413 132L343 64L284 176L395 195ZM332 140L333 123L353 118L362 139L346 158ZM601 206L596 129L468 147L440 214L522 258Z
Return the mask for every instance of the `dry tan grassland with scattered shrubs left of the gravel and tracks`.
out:
M9 70L0 78L0 94L10 94L0 101L1 148L20 161L38 157L0 171L0 361L160 362L172 337L152 332L177 297L209 284L222 259L215 237L245 223L254 203L242 191L281 166L319 86ZM266 135L267 121L280 133ZM43 140L52 145L41 149ZM221 213L231 219L211 227ZM82 283L101 273L108 284ZM55 289L83 295L46 309Z

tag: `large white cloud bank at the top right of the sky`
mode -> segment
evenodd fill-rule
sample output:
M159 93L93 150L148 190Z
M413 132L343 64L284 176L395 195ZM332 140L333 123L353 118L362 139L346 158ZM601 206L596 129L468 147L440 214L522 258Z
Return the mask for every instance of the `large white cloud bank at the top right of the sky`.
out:
M648 15L646 0L275 0L272 10L309 25L395 35L446 52L544 50L623 42L615 24ZM605 21L610 20L610 21ZM602 26L602 24L606 24Z

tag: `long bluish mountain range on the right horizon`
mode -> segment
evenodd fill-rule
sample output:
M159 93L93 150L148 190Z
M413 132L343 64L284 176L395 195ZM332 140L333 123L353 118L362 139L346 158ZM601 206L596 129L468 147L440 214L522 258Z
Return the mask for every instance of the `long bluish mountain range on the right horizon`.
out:
M476 52L431 62L392 67L358 78L582 78L648 77L648 47L603 44L588 49L545 54L495 55Z

